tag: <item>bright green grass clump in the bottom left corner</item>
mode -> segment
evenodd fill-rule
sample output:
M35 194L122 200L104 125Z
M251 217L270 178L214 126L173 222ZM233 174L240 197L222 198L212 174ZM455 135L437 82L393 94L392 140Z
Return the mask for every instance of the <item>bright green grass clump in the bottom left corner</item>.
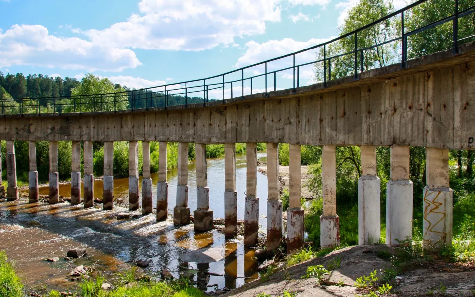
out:
M0 251L0 296L21 297L23 285L13 270L13 264L8 261L6 253Z

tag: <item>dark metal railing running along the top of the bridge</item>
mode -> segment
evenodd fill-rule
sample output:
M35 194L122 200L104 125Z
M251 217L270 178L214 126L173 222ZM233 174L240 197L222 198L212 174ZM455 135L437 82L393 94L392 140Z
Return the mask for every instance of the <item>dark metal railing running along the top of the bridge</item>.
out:
M360 27L354 31L345 33L337 38L329 40L327 42L321 43L319 45L302 49L293 53L289 53L280 57L272 58L263 62L255 63L248 65L236 70L232 70L226 73L219 75L195 79L186 82L166 84L156 87L143 88L138 90L129 90L125 92L116 92L116 93L103 93L103 94L89 94L89 95L76 95L76 96L59 96L59 97L41 97L41 98L21 98L21 99L4 99L1 102L1 114L44 114L44 113L69 113L69 112L104 112L104 111L119 111L119 110L136 110L136 109L145 109L148 110L152 107L165 107L175 105L185 105L188 106L190 103L203 103L203 105L210 100L209 94L213 92L217 94L215 90L221 90L219 92L222 94L220 100L229 98L236 98L236 94L233 94L233 88L241 88L240 94L238 97L244 97L245 83L250 83L250 94L253 94L253 81L256 81L258 78L264 78L265 83L263 91L266 95L270 91L278 90L277 87L277 74L284 73L285 71L290 71L292 74L290 77L293 79L293 84L290 84L290 88L300 87L301 74L300 69L309 65L321 65L323 66L323 76L320 82L324 83L324 86L327 86L328 81L332 80L332 63L340 61L342 58L353 59L354 58L354 68L352 69L352 75L355 79L358 79L359 73L365 71L365 59L364 53L368 50L379 49L379 47L397 43L397 47L400 52L400 64L404 68L406 66L406 60L408 57L408 38L430 30L434 27L452 22L452 45L453 53L457 54L458 46L460 42L469 41L470 39L475 39L475 34L471 36L466 36L459 39L459 19L465 16L468 16L475 12L475 5L470 6L465 9L459 9L459 0L454 0L454 11L455 13L441 18L437 21L431 22L427 25L420 26L416 29L406 32L406 23L405 15L411 15L411 9L421 5L430 0L419 0L416 1L400 10L397 10L391 14L386 15L383 18L380 18L377 21L374 21L370 24L367 24L363 27ZM435 0L434 0L435 1ZM397 36L368 46L368 47L359 47L358 45L358 34L364 34L364 30L370 28L376 28L381 26L385 21L388 21L391 18L399 18L400 27L398 28ZM397 19L396 18L396 19ZM474 32L475 33L475 32ZM345 39L350 39L350 42L353 42L354 39L354 50L337 53L330 55L332 44L335 42L344 42ZM400 47L400 48L399 48ZM305 63L296 63L296 56L302 53L308 53L313 49L318 49L319 52L316 54L317 58L310 62ZM449 49L449 48L448 48ZM322 57L323 56L323 57ZM319 58L320 57L320 58ZM283 61L285 58L292 58L292 62L289 66L275 69L269 71L268 67L271 62L274 61ZM262 73L255 73L252 76L245 77L244 71L249 71L253 67L264 66L264 71ZM368 65L366 65L368 70ZM377 67L375 67L377 68ZM236 78L240 74L240 77ZM226 80L228 76L235 76L234 79ZM268 78L271 76L272 85L269 87ZM288 77L288 76L287 76ZM219 81L218 81L219 80ZM234 86L233 86L234 85ZM225 87L230 86L227 98L225 98ZM280 88L279 88L280 89ZM236 92L236 91L234 91ZM202 97L196 96L202 94ZM174 104L173 101L179 99L180 102L184 104ZM170 102L172 100L172 102Z

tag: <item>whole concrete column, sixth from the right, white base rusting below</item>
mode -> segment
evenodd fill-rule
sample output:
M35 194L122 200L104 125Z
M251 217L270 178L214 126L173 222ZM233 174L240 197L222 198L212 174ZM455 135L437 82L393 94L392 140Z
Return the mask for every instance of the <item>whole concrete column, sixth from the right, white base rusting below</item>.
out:
M267 251L274 252L282 238L282 201L279 200L279 144L267 143Z

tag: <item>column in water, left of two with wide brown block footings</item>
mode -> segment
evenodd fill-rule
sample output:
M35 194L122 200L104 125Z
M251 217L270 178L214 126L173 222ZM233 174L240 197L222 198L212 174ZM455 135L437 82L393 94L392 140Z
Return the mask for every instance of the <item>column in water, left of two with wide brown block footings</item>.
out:
M188 208L188 143L178 143L178 185L177 205L173 208L175 225L190 224L190 208Z

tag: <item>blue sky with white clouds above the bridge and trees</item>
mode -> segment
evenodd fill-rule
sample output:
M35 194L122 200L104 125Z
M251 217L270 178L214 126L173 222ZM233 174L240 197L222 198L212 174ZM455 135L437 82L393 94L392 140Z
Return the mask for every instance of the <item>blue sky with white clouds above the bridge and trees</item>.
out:
M0 71L92 72L131 88L207 77L336 36L356 2L0 0Z

